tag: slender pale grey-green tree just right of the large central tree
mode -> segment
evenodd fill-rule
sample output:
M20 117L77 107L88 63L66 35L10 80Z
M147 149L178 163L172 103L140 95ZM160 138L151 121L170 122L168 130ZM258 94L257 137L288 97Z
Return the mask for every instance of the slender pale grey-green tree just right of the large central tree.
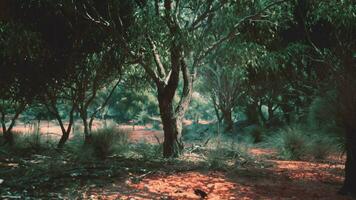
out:
M209 67L203 68L205 90L214 105L218 122L224 121L225 132L233 131L232 113L244 95L244 74L238 45L230 42L212 54Z

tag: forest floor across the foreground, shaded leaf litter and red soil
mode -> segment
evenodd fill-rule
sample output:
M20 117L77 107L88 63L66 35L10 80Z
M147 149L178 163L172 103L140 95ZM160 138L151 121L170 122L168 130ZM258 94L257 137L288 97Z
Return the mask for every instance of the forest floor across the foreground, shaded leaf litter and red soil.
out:
M130 135L133 142L161 137L145 127ZM176 160L113 156L78 163L58 152L14 157L0 150L0 199L201 199L197 189L216 200L348 199L337 195L344 171L339 156L285 161L272 149L254 146L248 152L253 160L213 170L195 153Z

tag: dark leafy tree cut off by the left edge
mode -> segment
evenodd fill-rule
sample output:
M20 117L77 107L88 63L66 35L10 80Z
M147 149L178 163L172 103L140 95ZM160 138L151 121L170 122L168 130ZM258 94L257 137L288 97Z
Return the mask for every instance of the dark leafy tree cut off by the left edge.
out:
M21 24L0 21L0 121L10 145L16 120L39 91L39 82L32 81L41 71L38 63L44 53L38 38Z

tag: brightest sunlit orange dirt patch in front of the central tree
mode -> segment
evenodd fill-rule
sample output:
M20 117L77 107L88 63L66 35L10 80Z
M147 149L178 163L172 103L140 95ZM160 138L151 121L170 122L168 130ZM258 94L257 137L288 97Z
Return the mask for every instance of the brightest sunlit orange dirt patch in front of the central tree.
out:
M221 173L188 172L175 175L156 175L144 179L139 184L130 184L131 187L148 194L159 194L172 199L200 199L194 193L200 189L208 194L208 199L241 199L250 192L248 187L239 186Z

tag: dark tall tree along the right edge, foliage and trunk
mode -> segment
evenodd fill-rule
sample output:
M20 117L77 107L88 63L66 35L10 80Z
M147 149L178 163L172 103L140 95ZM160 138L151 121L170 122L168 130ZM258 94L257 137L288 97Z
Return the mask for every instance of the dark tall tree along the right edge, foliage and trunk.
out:
M324 83L337 92L337 108L345 130L345 180L341 194L356 196L356 26L353 1L300 1L299 24L314 50L310 55L323 67ZM335 84L336 83L336 84Z

